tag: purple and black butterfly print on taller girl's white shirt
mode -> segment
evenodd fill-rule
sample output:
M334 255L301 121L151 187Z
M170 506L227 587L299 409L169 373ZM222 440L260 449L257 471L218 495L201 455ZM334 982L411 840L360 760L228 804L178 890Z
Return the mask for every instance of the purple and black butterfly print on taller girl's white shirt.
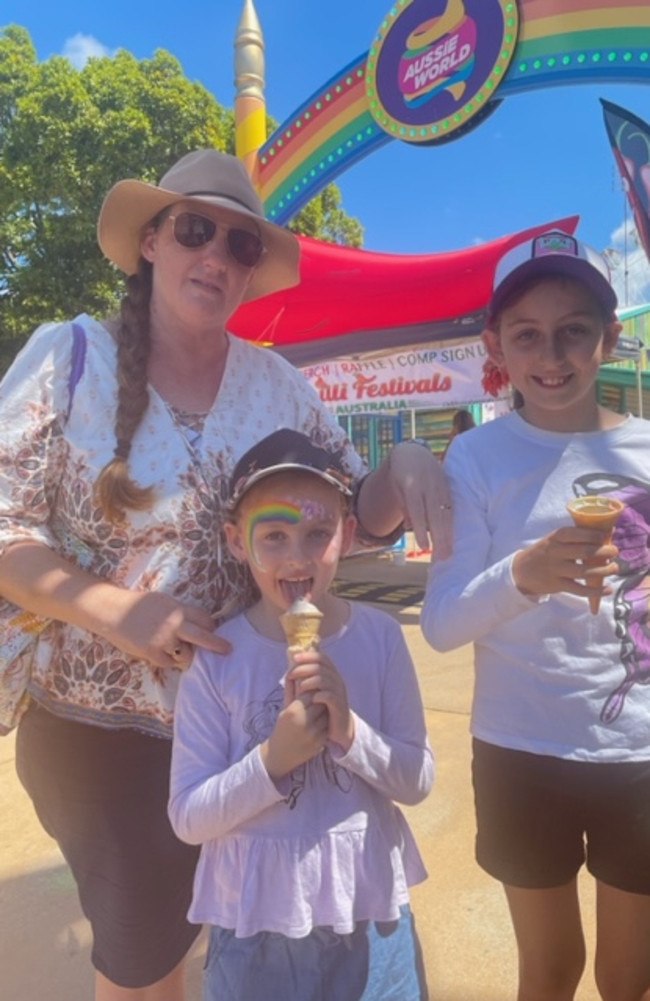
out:
M591 472L574 481L574 492L576 496L606 493L625 505L613 534L619 551L614 580L620 582L614 595L614 622L625 674L600 713L603 723L613 723L633 686L650 686L650 486L631 476Z

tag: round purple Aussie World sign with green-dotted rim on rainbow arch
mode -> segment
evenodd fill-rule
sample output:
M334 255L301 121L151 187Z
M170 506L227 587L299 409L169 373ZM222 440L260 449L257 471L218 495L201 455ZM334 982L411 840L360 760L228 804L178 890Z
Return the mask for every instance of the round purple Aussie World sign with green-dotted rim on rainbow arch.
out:
M406 142L467 129L505 75L518 30L516 0L398 0L368 55L373 117Z

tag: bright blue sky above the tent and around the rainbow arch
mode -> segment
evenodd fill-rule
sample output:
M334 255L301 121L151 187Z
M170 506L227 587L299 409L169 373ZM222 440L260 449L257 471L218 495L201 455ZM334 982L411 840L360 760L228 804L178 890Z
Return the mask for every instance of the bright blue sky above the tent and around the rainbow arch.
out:
M389 0L340 7L332 0L254 3L265 41L266 106L280 122L368 51L390 9ZM3 0L0 24L27 28L41 59L66 54L78 64L117 48L138 58L166 49L188 78L231 106L241 6L242 0ZM577 214L583 239L617 251L621 305L649 301L650 267L625 235L626 202L600 97L650 118L648 86L580 84L509 97L469 135L443 146L389 143L337 181L344 207L365 227L365 247L444 252Z

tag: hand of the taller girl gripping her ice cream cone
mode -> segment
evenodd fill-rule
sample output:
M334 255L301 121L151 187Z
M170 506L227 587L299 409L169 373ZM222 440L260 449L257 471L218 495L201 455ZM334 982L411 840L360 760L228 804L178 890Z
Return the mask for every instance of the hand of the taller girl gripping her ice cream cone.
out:
M584 598L608 594L605 578L616 574L618 550L591 529L557 529L515 554L513 577L524 595L566 592ZM585 582L586 572L589 572Z

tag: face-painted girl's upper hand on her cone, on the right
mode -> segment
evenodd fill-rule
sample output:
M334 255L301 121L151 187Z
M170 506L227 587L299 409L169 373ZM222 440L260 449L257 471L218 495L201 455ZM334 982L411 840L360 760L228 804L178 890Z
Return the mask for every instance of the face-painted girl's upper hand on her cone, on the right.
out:
M348 705L348 690L338 669L319 651L293 655L295 667L286 676L287 685L295 694L311 696L314 703L326 706L329 714L328 739L350 751L355 739L355 717Z

